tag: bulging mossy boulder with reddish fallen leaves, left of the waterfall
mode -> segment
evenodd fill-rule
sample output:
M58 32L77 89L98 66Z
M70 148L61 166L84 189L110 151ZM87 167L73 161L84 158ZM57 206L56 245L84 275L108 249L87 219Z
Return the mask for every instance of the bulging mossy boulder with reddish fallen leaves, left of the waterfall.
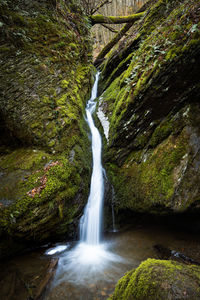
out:
M23 148L1 157L1 256L77 234L91 174L90 153L82 149L49 154ZM7 243L16 241L8 251Z

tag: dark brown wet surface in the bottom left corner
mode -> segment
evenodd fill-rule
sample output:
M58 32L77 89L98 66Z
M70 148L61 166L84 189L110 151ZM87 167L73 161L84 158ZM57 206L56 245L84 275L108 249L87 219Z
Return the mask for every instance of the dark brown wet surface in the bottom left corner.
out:
M1 262L1 299L39 299L36 297L44 278L50 274L50 265L51 259L42 258L40 251Z

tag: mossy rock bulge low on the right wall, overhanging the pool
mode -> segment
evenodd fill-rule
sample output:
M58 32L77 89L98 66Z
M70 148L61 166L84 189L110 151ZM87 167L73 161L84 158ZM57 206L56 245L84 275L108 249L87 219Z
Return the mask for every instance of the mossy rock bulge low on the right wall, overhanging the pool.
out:
M153 134L138 136L130 154L123 148L116 154L110 150L107 170L117 209L160 214L198 208L198 112L196 105L186 106L168 116Z

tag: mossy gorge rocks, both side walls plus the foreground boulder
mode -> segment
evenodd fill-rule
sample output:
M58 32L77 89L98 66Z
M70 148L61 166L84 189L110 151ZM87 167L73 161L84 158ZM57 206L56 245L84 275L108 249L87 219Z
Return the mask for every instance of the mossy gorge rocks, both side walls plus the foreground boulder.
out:
M132 213L198 219L200 4L149 0L142 11L98 64L115 211L123 220ZM0 0L0 12L4 258L77 235L92 167L84 107L95 71L91 24L78 1ZM111 201L108 192L106 206ZM199 286L199 266L149 259L110 299L195 300Z

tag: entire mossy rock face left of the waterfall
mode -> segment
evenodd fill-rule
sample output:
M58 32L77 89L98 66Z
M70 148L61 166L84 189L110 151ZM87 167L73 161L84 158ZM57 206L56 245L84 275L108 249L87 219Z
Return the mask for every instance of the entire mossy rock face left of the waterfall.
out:
M75 1L0 1L0 32L3 256L74 231L91 172L92 49Z

